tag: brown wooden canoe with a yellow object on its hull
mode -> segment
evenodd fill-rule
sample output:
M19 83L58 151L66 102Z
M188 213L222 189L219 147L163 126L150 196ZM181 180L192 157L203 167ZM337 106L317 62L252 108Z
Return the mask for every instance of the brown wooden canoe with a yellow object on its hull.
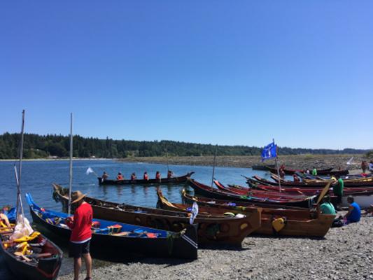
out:
M158 191L158 204L163 209L173 209L188 212L191 204L176 204L169 202L162 192ZM252 207L229 206L226 202L209 200L203 197L191 197L183 191L183 197L186 201L197 202L199 212L210 214L245 214L251 211ZM286 226L279 232L274 230L272 221L275 218L285 218ZM318 209L262 209L261 226L254 233L260 235L283 235L283 236L302 236L302 237L324 237L330 229L335 215L320 214Z

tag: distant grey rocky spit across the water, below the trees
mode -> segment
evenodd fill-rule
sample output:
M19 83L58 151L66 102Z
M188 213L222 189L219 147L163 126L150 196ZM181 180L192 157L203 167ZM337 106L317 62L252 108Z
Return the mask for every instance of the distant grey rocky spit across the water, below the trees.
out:
M353 157L351 164L347 162ZM213 156L201 157L153 157L153 158L124 158L123 162L148 162L166 165L213 165ZM279 165L285 165L293 169L318 169L335 167L338 169L360 169L361 161L369 160L365 155L280 155ZM274 165L274 160L267 160L267 165ZM220 167L252 167L263 165L259 156L218 156L216 166Z

